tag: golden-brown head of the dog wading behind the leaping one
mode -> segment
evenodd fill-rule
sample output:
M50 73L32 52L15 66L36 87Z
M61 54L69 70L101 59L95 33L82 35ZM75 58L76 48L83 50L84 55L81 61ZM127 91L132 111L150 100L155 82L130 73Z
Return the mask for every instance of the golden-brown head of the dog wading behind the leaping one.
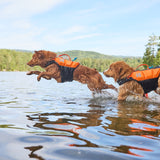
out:
M114 62L110 65L109 69L104 71L106 77L113 77L117 82L120 79L127 78L134 69L123 61Z

